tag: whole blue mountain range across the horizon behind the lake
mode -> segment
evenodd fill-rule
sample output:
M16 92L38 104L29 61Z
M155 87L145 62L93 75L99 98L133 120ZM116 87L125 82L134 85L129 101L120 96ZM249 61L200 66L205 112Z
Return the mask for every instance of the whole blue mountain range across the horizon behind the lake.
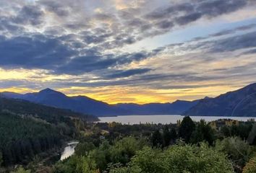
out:
M53 89L40 92L18 94L2 92L1 97L25 99L41 105L64 108L88 115L191 115L191 116L256 116L256 83L249 84L234 92L227 92L218 97L197 99L194 101L176 100L171 103L120 103L109 105L90 97L67 95Z

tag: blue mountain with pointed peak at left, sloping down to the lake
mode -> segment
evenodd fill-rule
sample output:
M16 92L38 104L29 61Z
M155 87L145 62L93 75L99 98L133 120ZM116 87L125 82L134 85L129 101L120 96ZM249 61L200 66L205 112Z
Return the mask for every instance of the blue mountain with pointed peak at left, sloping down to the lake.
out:
M25 99L41 105L59 107L88 115L103 116L119 114L119 110L116 110L116 107L111 107L111 105L108 105L105 102L100 102L84 96L67 97L65 94L53 89L43 89L40 92L27 94L9 94L3 92L2 95L7 98Z

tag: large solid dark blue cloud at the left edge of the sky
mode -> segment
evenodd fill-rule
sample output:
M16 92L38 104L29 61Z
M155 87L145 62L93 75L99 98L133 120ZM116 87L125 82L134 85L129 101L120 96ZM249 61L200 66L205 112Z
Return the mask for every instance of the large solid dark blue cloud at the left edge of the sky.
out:
M0 65L4 67L53 70L75 55L60 40L43 35L0 39Z

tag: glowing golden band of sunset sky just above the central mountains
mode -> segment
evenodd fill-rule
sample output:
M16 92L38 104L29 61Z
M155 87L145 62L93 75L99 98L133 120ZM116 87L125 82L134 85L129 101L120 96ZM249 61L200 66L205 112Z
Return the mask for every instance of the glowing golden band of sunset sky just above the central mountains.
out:
M145 89L129 86L101 86L101 87L70 87L58 89L69 96L83 95L94 99L116 104L120 102L136 102L145 104L150 102L174 102L176 99L201 99L205 96L215 97L223 92L238 89L231 86L208 86L188 89ZM207 95L205 95L207 93Z

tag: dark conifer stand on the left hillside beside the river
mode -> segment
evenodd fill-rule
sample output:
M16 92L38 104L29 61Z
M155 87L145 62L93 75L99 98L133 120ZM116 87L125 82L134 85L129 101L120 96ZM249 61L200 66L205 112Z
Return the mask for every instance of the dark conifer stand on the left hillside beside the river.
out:
M60 146L61 138L57 126L0 113L0 152L4 166L24 164L35 154Z

